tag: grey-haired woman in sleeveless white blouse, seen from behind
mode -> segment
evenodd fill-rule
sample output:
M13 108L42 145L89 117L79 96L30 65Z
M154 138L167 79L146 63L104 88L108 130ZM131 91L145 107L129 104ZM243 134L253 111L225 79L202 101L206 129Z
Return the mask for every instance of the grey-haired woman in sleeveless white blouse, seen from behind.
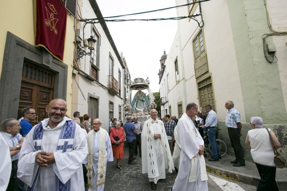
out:
M256 164L261 180L259 181L258 190L278 190L276 184L276 164L274 163L274 152L270 142L269 134L263 128L261 117L251 117L252 130L248 131L245 144L251 149L251 156ZM268 129L274 143L278 149L281 145L271 129Z

